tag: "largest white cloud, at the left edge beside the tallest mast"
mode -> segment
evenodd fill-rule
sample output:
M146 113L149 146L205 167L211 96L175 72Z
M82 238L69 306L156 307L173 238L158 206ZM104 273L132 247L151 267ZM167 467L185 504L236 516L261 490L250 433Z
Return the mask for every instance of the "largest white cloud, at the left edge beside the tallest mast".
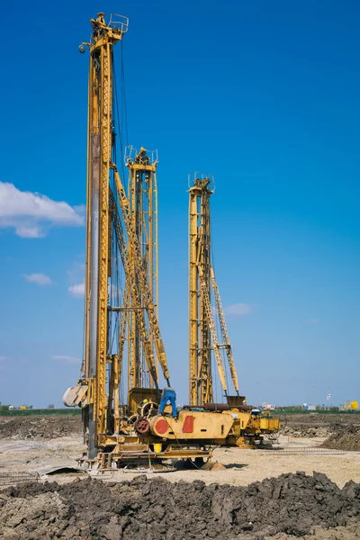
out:
M22 192L14 184L0 182L0 227L15 229L22 238L42 238L51 225L84 224L84 207L49 199L40 193Z

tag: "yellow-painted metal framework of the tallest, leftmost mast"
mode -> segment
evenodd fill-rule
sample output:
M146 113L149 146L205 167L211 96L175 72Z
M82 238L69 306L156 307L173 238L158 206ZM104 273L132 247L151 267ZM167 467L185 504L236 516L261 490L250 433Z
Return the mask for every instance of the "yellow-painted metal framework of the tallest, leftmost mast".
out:
M99 259L97 313L96 377L92 402L96 437L106 428L106 352L107 352L107 302L109 275L109 177L112 160L112 48L122 39L123 28L105 23L98 14L91 21L93 27L90 43L89 108L88 108L88 158L87 158L87 213L86 213L86 272L85 272L85 379L90 379L90 259L92 253L91 200L94 166L99 166ZM100 155L97 153L100 150ZM97 159L98 165L95 163Z

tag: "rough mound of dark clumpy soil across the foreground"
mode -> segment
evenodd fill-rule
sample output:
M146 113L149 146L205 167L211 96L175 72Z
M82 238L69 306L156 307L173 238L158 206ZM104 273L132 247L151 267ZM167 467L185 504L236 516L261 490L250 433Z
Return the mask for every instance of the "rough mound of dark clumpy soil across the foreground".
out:
M313 527L357 527L360 484L340 490L322 473L283 474L246 488L145 475L121 483L88 478L9 488L0 509L0 537L9 540L351 538L314 536Z

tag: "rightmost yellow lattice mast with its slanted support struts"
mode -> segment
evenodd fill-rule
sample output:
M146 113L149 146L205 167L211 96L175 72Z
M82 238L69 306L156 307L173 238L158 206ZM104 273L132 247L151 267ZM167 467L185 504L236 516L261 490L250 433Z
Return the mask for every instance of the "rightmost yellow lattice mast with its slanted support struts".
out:
M225 350L229 372L238 396L238 374L232 356L229 334L220 301L219 288L211 266L211 178L195 174L189 189L189 399L192 405L203 405L213 400L211 351L219 372L220 385L228 396L225 366L221 350ZM215 298L220 320L220 342L211 307L211 293Z

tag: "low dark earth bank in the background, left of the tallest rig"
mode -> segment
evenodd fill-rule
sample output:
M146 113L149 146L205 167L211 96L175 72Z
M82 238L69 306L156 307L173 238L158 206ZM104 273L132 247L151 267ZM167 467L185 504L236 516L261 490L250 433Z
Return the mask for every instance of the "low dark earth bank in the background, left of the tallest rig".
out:
M0 437L51 439L80 434L80 417L16 417L0 419Z

